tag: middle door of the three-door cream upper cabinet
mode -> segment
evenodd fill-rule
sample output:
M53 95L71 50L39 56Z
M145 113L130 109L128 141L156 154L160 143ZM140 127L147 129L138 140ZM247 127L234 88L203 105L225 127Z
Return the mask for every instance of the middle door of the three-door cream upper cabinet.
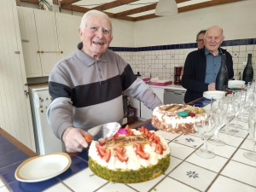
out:
M33 9L35 14L42 75L49 76L55 63L60 60L55 12ZM44 53L41 53L44 51Z

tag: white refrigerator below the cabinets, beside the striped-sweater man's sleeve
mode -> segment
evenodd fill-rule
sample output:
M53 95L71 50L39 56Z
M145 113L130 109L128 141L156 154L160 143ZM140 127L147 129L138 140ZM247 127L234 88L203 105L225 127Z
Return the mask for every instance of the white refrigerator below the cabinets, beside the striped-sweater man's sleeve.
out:
M37 154L63 152L65 150L64 143L55 137L46 119L46 111L52 101L48 85L29 86L28 91Z

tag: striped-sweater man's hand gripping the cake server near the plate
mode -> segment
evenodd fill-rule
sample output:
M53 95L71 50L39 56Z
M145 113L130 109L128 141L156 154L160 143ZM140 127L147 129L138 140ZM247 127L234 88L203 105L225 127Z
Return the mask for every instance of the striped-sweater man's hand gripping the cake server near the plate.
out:
M67 152L81 152L84 148L87 148L88 143L84 139L86 135L90 134L79 128L68 127L62 135L62 140L65 143Z

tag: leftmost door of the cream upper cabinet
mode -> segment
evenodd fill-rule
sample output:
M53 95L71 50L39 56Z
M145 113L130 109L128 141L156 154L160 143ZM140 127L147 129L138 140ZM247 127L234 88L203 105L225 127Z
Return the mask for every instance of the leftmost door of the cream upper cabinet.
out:
M26 78L41 77L42 67L38 53L39 47L34 11L25 7L17 7L17 10Z

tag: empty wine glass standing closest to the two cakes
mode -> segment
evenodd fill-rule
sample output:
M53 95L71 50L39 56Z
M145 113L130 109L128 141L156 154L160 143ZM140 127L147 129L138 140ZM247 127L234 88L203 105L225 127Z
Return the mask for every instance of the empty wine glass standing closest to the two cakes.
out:
M215 154L207 149L207 139L214 135L216 124L218 124L216 111L211 114L199 113L195 115L195 131L204 138L203 148L197 149L195 154L202 158L211 159L215 157Z

